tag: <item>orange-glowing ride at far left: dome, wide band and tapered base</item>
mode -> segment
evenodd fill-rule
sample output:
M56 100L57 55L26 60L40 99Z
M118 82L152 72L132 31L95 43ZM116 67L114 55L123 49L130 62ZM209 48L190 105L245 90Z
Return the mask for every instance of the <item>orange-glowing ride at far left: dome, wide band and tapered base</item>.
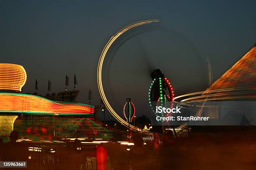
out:
M36 95L21 94L27 79L21 65L0 63L0 138L7 140L18 115L87 115L95 107L74 102L52 101Z

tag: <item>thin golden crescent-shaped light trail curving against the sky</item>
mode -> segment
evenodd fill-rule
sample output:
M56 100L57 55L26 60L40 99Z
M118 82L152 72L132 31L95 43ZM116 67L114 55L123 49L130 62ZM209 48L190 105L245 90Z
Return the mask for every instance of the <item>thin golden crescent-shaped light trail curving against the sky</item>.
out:
M120 35L122 35L124 32L137 27L139 25L144 25L144 24L150 24L150 23L155 23L155 22L159 22L160 20L144 20L144 21L139 21L137 23L133 23L131 25L126 26L125 28L123 28L122 30L118 31L113 37L110 38L110 40L108 41L108 43L105 45L104 49L102 50L102 53L100 55L100 60L98 63L98 69L97 69L97 83L98 83L98 88L100 91L100 96L105 104L105 106L107 107L108 111L115 117L115 119L117 119L120 123L122 123L123 125L125 125L126 127L128 127L128 122L126 122L125 120L123 120L116 112L115 110L111 107L110 103L108 102L108 99L105 95L105 92L103 90L103 86L102 86L102 65L103 65L103 61L104 58L108 52L108 49L111 47L111 45L113 44L113 42L115 42L116 39L118 39L118 37L120 37ZM131 130L136 130L136 131L140 131L140 132L148 132L146 130L143 129L139 129L136 128L133 125L130 125L130 129Z

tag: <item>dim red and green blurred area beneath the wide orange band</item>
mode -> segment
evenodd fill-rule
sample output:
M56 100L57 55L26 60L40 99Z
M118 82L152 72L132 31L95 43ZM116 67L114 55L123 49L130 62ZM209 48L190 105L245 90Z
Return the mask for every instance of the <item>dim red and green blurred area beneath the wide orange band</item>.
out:
M98 131L108 131L108 128L91 117L23 117L15 120L13 130L19 137L33 142L52 141L73 137L94 138Z

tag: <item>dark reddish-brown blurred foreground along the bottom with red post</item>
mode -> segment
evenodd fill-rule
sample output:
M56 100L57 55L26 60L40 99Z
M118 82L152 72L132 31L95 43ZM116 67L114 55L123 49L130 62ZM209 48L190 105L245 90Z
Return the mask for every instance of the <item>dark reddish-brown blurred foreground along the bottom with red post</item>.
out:
M1 161L26 160L26 169L67 170L255 170L256 135L254 130L192 132L188 137L164 135L157 150L148 148L137 136L133 144L2 143ZM10 168L6 168L10 169Z

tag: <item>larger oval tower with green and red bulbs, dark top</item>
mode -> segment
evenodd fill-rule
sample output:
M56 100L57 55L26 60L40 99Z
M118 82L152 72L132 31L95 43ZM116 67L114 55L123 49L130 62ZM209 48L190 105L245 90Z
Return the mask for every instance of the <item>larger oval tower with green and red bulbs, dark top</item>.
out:
M148 103L152 112L156 113L156 106L172 108L174 105L174 89L171 82L164 77L161 70L157 69L151 73L152 82L148 90ZM171 113L162 113L160 116L170 116ZM152 119L153 120L153 119Z

